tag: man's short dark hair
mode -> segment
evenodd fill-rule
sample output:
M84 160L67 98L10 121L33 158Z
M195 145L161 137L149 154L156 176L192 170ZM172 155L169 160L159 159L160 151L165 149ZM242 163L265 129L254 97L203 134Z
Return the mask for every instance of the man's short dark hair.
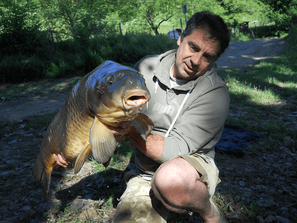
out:
M220 51L217 58L224 53L225 49L228 48L230 42L230 23L225 21L219 15L212 14L208 11L196 12L187 21L187 26L184 32L181 34L181 41L184 40L189 34L195 29L205 29L211 39L219 40Z

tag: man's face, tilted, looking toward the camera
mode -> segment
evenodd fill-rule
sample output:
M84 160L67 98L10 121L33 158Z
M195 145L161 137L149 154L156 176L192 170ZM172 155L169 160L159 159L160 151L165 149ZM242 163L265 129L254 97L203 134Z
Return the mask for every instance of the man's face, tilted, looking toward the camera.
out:
M214 63L219 50L219 41L205 38L203 29L195 29L183 41L177 40L176 62L173 77L192 80L203 75ZM206 35L207 37L207 35Z

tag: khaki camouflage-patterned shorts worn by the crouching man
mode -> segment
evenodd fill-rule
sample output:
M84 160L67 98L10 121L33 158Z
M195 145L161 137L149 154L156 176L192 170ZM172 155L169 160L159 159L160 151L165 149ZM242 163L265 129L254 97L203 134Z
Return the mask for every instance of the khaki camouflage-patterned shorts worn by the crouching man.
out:
M175 158L178 157L184 158L202 174L199 180L206 185L208 196L212 197L215 187L220 182L219 171L213 159L201 154ZM156 173L161 167L162 165ZM151 181L154 180L156 173ZM127 172L124 178L128 182L127 189L121 196L121 201L111 222L165 223L169 210L154 196L151 181L143 179L135 170Z

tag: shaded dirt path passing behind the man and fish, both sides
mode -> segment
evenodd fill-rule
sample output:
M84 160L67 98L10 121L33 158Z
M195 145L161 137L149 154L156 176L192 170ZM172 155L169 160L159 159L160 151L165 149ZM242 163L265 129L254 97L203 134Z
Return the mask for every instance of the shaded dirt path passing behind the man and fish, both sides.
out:
M282 38L230 42L228 49L216 63L220 70L242 69L259 60L274 58L285 46L285 40ZM55 113L63 106L67 96L68 92L65 92L46 96L31 96L15 101L2 101L0 102L0 114L10 121L19 121L28 117Z

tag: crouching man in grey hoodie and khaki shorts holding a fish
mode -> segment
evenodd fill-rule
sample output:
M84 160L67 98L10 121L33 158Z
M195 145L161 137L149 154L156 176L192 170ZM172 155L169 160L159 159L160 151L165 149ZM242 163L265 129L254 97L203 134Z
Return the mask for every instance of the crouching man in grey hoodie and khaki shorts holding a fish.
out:
M177 50L146 56L135 65L151 92L149 109L142 113L155 127L147 141L134 129L127 135L136 169L124 176L127 189L112 222L166 222L169 210L199 213L207 223L227 222L210 197L220 182L214 146L230 102L214 61L229 45L228 28L218 15L197 12ZM63 163L60 155L54 158Z

